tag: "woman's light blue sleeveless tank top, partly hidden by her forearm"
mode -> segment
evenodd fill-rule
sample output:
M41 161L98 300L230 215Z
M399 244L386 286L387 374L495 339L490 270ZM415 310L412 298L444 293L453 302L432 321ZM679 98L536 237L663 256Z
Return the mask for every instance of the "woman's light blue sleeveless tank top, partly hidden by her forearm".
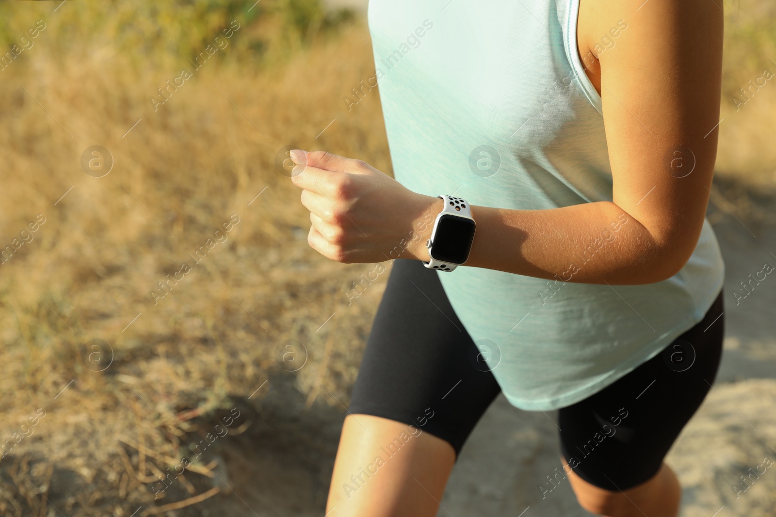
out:
M577 53L578 5L370 0L397 181L505 209L611 202L601 97ZM575 263L595 260L595 249L580 246ZM705 220L688 263L654 284L556 284L477 267L437 274L509 402L537 411L593 395L701 321L724 264Z

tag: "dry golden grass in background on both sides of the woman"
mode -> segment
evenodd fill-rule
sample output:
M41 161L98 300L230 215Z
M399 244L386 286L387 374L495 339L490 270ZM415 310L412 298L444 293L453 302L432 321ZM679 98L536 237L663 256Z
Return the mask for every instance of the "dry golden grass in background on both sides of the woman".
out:
M47 498L68 515L150 515L212 495L220 485L204 461L157 501L154 481L230 408L261 398L268 374L305 358L308 403L347 404L382 284L348 305L349 283L372 267L310 250L307 212L275 157L294 144L390 173L377 91L350 112L342 100L374 73L369 33L315 2L221 3L2 5L8 45L47 24L0 71L0 245L45 218L0 265L0 440L12 443L2 515L50 515ZM776 55L754 24L762 16L743 18L758 46L727 25L727 95L763 66L776 71L740 59ZM154 110L149 98L233 19L229 46ZM736 184L774 182L770 82L740 112L723 108L721 171ZM102 178L80 165L96 144L114 160ZM227 240L197 263L232 214ZM184 263L191 271L164 298L151 295ZM22 429L32 434L16 440Z

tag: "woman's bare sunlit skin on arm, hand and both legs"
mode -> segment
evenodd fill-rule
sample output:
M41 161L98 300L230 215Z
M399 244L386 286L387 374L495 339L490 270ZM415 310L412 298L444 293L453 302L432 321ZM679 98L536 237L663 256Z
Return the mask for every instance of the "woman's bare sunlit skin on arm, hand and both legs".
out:
M603 99L613 201L535 211L473 206L477 227L466 266L552 279L573 263L577 246L595 240L624 213L629 222L617 240L570 281L648 284L676 274L698 241L712 184L722 17L719 5L708 0L580 2L577 45ZM626 20L628 29L615 47L599 51L601 36L618 20ZM667 159L679 148L695 156L695 168L684 178L671 174ZM310 210L308 242L332 260L387 260L388 250L442 209L442 200L409 191L361 160L316 151L295 161L292 181L303 189L301 201ZM428 260L424 243L430 233L425 229L405 257ZM366 431L355 418L369 422ZM381 467L358 497L345 498L342 491L399 428L406 426L367 415L345 419L328 515L435 515L454 453L428 433ZM575 474L570 484L580 505L609 517L675 516L681 498L665 464L625 493L594 487Z

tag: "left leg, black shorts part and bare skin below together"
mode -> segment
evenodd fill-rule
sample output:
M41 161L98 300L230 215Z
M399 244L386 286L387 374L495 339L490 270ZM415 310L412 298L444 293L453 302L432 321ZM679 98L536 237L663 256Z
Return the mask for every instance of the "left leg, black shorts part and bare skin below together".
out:
M463 443L500 391L437 272L394 260L342 428L329 515L435 515Z

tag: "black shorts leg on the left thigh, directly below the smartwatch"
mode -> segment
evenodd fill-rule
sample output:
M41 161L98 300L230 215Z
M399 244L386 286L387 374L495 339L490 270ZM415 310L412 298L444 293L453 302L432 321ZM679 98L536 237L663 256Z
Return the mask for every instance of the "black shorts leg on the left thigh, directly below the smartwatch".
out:
M419 260L393 261L349 412L412 425L457 457L501 388L437 275Z

